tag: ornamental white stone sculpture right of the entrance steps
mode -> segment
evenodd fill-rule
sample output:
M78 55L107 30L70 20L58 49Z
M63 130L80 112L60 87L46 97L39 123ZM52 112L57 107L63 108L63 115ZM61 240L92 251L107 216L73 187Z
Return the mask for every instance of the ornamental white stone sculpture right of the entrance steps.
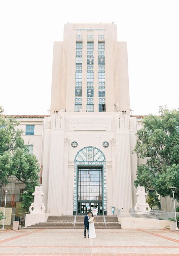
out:
M146 196L147 193L145 193L145 187L138 186L137 187L137 203L136 206L134 207L135 212L137 213L143 213L143 212L150 212L150 206L148 203L146 203Z

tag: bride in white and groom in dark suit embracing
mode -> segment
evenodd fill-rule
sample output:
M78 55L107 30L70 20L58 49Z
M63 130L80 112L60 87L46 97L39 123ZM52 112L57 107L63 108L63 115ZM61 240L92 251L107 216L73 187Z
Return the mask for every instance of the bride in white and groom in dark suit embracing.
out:
M85 225L85 238L86 238L86 228L88 230L88 238L95 238L96 232L94 228L94 217L93 213L87 212L87 215L85 215L84 218L84 225Z

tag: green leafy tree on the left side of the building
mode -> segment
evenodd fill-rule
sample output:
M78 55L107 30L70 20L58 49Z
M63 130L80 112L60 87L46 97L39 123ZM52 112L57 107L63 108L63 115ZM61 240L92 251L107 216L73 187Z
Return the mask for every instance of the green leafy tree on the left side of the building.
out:
M8 183L10 176L16 176L26 184L26 194L23 194L22 206L28 211L33 201L32 193L38 186L40 167L36 156L29 153L22 139L23 131L17 129L19 122L12 117L2 115L0 108L0 187Z

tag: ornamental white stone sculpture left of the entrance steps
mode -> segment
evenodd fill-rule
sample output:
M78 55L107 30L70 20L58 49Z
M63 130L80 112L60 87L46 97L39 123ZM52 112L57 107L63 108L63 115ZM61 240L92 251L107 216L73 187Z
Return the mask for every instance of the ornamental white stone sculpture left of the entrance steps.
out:
M29 207L30 213L44 213L45 212L45 206L44 203L42 203L43 198L43 192L42 192L42 186L36 186L35 192L32 194L34 195L34 203L31 203L31 206Z

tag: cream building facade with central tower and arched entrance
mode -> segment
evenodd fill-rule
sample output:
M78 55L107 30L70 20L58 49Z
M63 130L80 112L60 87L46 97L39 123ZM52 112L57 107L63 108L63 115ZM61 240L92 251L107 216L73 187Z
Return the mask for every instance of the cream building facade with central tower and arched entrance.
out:
M128 212L136 199L132 153L141 117L130 115L126 42L114 24L66 24L54 42L50 116L16 116L41 165L43 203L54 215ZM162 209L172 210L169 198Z

